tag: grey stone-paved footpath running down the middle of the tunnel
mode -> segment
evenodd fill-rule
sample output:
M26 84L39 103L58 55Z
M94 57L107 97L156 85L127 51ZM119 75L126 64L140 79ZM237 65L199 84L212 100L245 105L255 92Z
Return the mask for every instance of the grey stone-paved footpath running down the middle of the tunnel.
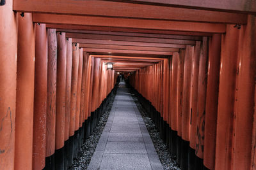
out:
M88 169L163 169L147 127L121 82Z

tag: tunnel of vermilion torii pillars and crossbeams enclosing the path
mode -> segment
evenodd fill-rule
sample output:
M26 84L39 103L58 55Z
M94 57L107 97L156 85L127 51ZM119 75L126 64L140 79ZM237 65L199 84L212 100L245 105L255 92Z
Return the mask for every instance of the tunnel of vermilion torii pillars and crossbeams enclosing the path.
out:
M256 169L255 14L253 0L1 0L0 169L70 166L118 72L181 169Z

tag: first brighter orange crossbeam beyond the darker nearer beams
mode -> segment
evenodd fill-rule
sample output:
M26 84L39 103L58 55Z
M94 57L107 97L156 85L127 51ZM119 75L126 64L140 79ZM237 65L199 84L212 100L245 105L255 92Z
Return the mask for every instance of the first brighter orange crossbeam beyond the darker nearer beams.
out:
M112 50L142 50L142 51L157 51L157 52L179 52L179 48L161 48L161 47L148 47L148 46L79 44L79 47L104 48L104 49L112 49Z

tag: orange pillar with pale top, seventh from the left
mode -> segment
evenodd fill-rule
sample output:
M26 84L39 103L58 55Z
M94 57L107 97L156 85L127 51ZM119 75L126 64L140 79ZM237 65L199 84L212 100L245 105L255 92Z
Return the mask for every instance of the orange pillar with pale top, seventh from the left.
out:
M72 79L71 79L69 136L74 135L75 125L76 125L78 64L79 64L79 44L73 43L72 44Z

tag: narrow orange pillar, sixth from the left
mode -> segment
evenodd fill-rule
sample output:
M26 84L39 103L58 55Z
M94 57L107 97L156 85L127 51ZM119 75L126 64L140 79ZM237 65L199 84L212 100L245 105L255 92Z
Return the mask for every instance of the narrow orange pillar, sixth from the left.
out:
M65 101L65 141L69 138L70 127L70 101L71 101L71 77L72 77L72 39L68 38L67 45L67 70L66 70L66 101Z

